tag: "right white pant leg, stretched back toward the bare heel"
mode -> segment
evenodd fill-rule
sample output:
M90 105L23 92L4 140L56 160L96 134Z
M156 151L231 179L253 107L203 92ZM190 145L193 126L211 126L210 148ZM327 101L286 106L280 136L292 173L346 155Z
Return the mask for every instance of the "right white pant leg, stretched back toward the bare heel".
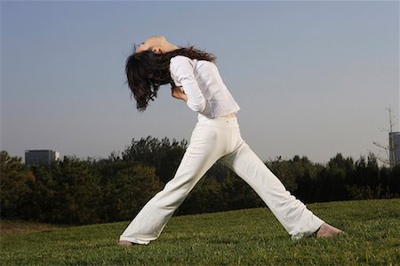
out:
M222 163L252 186L292 239L300 239L317 231L324 221L286 191L284 184L252 152L240 133L237 134L239 136L234 151L224 157Z

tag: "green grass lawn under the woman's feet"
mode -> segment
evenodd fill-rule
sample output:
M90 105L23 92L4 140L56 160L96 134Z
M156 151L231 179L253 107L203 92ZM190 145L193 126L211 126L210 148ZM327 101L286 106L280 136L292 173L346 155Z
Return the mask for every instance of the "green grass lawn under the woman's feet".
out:
M129 222L4 233L2 265L400 265L400 200L310 204L345 236L293 241L268 208L175 216L148 246L119 247ZM11 222L8 222L11 223ZM9 224L10 225L10 224ZM18 223L17 223L18 225ZM18 226L17 226L18 227Z

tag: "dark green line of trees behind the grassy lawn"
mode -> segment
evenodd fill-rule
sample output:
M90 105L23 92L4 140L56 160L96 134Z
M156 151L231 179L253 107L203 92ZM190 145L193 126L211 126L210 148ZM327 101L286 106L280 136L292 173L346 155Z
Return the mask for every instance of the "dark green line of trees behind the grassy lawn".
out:
M64 157L49 166L22 163L0 153L0 215L49 223L131 220L172 179L188 142L155 137L132 140L107 159ZM400 165L379 166L369 154L358 160L336 154L326 164L307 157L265 162L304 202L398 198ZM177 215L262 207L252 188L228 168L214 164L177 210Z

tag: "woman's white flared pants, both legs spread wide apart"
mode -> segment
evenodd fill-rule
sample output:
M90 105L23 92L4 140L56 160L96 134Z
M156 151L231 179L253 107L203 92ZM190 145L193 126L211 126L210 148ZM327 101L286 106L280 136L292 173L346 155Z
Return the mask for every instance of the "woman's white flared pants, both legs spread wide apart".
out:
M120 240L137 244L156 240L175 210L217 160L252 186L292 239L306 237L324 223L287 192L252 152L240 136L236 117L219 117L197 122L174 178L140 210Z

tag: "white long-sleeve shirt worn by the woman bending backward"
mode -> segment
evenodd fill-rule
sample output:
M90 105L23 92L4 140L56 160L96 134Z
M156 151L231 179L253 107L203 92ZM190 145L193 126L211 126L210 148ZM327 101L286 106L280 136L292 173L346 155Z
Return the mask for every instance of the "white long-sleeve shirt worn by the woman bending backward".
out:
M193 111L208 118L239 111L214 63L176 56L170 61L170 72L175 85L188 96L187 105Z

